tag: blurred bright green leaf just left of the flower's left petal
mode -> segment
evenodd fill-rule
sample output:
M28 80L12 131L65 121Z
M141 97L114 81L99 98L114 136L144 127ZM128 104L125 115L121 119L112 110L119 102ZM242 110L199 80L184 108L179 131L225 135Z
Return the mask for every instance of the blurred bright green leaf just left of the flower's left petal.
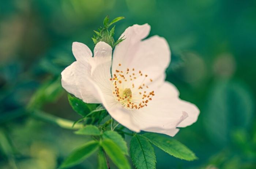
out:
M60 77L50 82L46 82L34 93L27 106L28 109L40 108L48 102L56 101L63 93Z

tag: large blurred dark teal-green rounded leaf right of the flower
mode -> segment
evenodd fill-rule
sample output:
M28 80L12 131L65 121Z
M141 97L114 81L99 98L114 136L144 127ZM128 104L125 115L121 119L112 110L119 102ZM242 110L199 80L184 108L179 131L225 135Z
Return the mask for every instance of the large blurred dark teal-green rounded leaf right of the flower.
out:
M252 94L243 84L235 81L215 84L204 119L210 139L219 145L228 144L232 130L250 126L254 106Z

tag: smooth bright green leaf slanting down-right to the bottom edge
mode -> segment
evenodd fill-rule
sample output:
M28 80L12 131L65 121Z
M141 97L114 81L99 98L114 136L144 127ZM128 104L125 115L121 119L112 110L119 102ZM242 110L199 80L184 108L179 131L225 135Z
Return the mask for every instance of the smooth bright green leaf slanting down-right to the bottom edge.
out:
M102 148L108 154L113 163L121 169L130 169L129 162L119 146L110 139L104 139L101 143Z

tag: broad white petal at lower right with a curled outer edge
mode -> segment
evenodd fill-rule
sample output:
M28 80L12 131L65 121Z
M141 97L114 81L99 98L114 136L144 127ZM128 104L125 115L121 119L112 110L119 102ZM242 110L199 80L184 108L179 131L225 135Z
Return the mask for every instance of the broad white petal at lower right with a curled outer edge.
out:
M177 131L174 130L176 127L195 122L199 110L193 104L179 99L178 94L173 84L165 82L155 91L155 96L147 107L130 111L140 129L172 135Z

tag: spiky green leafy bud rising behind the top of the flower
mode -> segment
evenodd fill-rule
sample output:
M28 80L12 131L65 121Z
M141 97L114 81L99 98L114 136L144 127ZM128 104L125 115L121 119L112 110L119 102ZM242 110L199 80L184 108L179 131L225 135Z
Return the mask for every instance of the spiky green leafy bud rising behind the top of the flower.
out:
M100 27L99 28L99 32L98 31L94 31L96 35L93 36L93 43L97 44L98 42L106 42L108 43L112 48L114 48L117 44L119 44L120 42L122 42L124 39L123 37L118 39L116 42L113 38L114 36L114 29L115 27L112 27L112 29L109 31L108 28L110 25L116 23L119 20L124 19L124 17L117 17L115 19L113 19L112 21L110 21L109 23L109 16L106 16L104 21L103 21L103 25L104 27Z

